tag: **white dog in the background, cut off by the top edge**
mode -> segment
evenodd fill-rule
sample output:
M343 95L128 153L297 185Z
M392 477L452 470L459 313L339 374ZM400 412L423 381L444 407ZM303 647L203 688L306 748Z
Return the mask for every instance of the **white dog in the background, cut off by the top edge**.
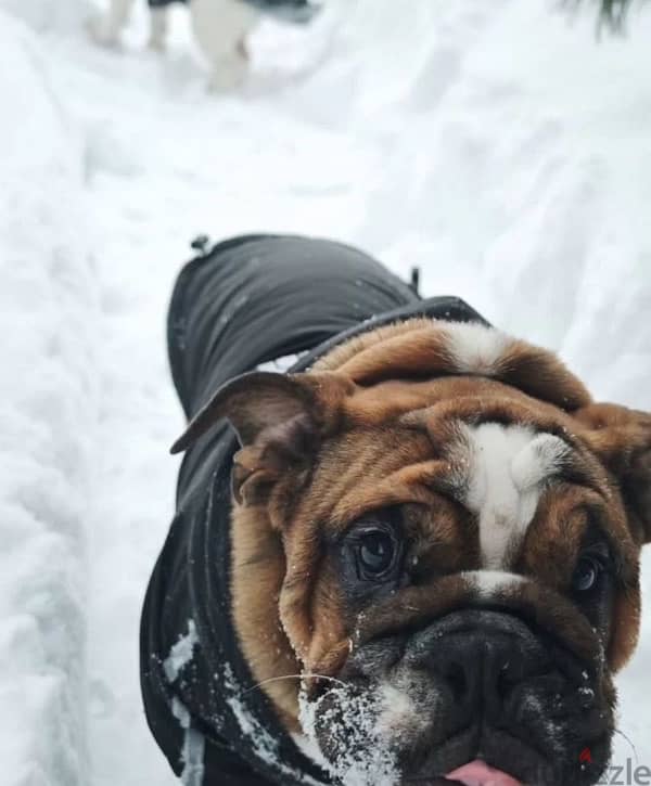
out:
M150 9L149 47L165 49L168 7L184 2L190 9L192 30L210 66L209 89L238 87L248 68L246 39L263 15L291 24L309 22L320 7L310 0L148 0ZM104 14L89 22L93 39L105 47L119 43L136 0L110 0Z

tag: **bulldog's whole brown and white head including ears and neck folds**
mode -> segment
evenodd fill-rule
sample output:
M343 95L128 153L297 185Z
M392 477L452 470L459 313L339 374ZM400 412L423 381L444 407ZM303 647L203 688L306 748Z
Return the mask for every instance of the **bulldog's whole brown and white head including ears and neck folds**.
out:
M425 320L241 377L177 448L225 415L242 649L335 778L598 781L638 632L650 415ZM296 673L301 712L275 679Z

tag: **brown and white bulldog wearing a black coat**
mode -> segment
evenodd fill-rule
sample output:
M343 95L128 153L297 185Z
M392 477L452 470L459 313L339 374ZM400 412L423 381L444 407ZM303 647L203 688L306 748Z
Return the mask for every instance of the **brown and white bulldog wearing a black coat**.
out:
M651 415L593 401L553 352L420 301L348 247L257 236L193 265L170 322L188 452L143 627L148 717L164 746L157 680L177 772L596 784L638 636ZM369 282L388 302L363 301ZM288 348L279 331L353 310L346 291L346 330L301 333L288 373L258 368Z

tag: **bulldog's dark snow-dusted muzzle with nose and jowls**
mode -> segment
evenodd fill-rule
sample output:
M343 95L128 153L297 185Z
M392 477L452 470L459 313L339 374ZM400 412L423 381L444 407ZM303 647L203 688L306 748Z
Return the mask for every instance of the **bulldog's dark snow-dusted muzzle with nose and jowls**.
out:
M345 687L308 704L343 783L372 764L369 783L445 783L484 766L503 775L494 783L588 786L608 763L612 697L598 665L510 611L468 608L369 642L340 677Z

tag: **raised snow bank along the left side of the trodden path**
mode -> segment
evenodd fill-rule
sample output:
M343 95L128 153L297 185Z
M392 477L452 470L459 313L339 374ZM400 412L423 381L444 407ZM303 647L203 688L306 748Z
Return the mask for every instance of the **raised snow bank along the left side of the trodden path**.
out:
M0 49L2 783L76 786L95 402L82 156L35 39L1 11Z

